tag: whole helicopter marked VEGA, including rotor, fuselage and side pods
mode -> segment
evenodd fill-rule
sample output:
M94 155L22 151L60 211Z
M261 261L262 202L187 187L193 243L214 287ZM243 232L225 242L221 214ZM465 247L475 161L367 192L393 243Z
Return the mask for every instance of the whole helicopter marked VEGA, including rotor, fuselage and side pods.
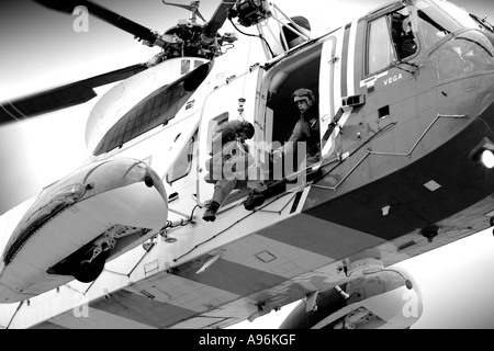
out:
M125 78L89 116L93 157L7 214L0 296L7 315L19 304L2 318L9 327L70 319L75 294L91 310L159 328L223 328L300 298L304 316L323 314L310 327L409 327L420 315L418 286L389 267L493 225L486 20L445 1L393 1L311 39L303 19L268 1L223 1L205 24L193 1L191 19L159 35L85 4L162 52L83 82ZM227 19L262 38L259 63L240 75L222 53L236 42L217 33ZM271 37L268 21L278 26ZM270 183L258 208L244 208L248 192L238 189L214 224L201 220L217 126L250 122L250 152L269 170L301 86L318 97L321 160ZM2 122L87 99L77 87L76 101L59 104L66 89L2 104ZM415 313L404 316L408 293ZM397 304L390 314L374 297ZM124 316L122 304L149 317ZM90 318L64 322L89 327Z

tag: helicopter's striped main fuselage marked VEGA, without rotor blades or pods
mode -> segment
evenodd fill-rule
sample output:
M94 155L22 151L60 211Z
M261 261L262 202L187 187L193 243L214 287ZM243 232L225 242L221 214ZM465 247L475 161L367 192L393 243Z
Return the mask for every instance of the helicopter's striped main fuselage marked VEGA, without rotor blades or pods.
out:
M424 3L383 7L266 63L246 60L244 71L228 55L175 58L113 88L88 122L89 162L145 162L164 183L168 217L143 238L148 250L136 240L106 262L89 301L111 309L99 303L102 292L153 296L162 303L158 327L210 326L205 318L226 327L236 320L223 316L239 306L243 320L349 282L352 262L389 267L492 226L494 180L478 156L494 150L494 33ZM190 69L158 78L179 67ZM248 189L239 186L214 223L202 220L216 126L252 123L250 152L269 170L269 152L299 118L297 88L318 97L321 160L260 177L266 201L255 211L244 208ZM9 303L38 294L22 284Z

